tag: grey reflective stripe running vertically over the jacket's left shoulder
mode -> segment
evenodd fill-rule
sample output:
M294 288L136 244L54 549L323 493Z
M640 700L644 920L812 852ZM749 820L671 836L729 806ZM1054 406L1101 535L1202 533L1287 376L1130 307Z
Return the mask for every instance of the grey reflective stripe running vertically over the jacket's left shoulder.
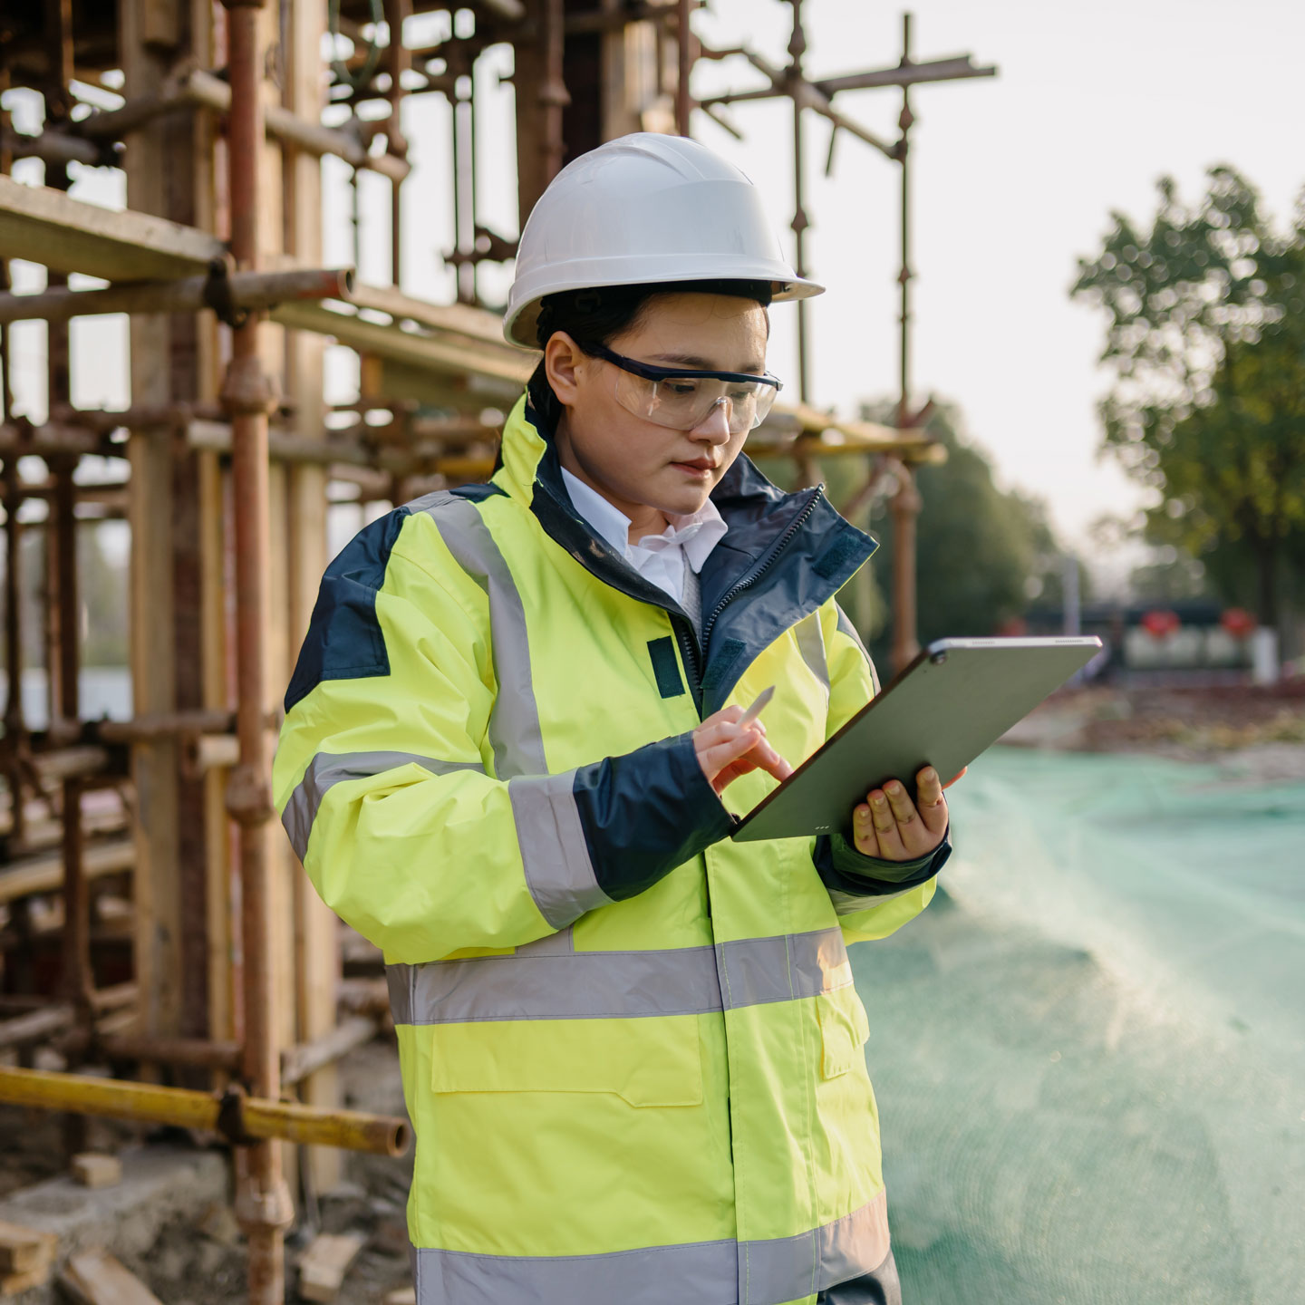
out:
M493 673L499 692L489 714L489 745L499 779L517 775L547 775L539 705L530 673L530 639L512 568L499 551L479 509L448 491L425 495L408 505L436 523L454 561L484 591L489 600L493 630Z

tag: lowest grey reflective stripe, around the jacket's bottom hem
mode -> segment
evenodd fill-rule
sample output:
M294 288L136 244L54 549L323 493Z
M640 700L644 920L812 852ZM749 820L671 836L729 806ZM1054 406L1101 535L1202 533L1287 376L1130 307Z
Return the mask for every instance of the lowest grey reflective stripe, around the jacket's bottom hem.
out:
M699 1241L606 1255L482 1255L418 1248L416 1305L783 1305L872 1272L889 1254L883 1193L796 1237Z

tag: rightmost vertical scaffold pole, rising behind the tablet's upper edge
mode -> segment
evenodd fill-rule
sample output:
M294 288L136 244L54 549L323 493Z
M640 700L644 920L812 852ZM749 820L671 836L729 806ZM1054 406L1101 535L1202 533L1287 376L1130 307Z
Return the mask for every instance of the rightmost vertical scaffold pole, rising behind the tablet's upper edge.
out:
M902 16L902 67L911 63L911 14ZM910 132L911 87L902 87L902 114L898 127L902 137L897 146L902 167L902 270L898 284L902 292L900 334L898 339L898 414L897 425L904 431L911 415L911 167ZM920 515L920 492L911 468L902 463L897 471L898 491L893 497L893 668L900 671L920 651L916 611L916 521Z

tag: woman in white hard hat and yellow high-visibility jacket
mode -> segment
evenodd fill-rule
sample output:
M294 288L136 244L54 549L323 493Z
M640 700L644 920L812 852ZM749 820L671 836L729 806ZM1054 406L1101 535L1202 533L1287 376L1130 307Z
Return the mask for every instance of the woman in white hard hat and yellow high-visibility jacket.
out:
M740 457L767 305L818 290L702 146L577 159L522 235L543 360L492 482L322 581L278 806L386 955L420 1305L898 1300L844 940L928 903L938 778L727 837L874 690L834 602L873 542Z

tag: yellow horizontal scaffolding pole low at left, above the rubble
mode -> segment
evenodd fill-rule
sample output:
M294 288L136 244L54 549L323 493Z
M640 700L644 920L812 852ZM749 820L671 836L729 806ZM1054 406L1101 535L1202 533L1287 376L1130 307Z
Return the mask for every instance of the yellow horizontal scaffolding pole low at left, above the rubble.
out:
M236 1092L218 1095L34 1069L0 1066L0 1101L40 1111L206 1129L234 1142L252 1142L256 1150L258 1144L282 1139L401 1156L410 1138L407 1121L393 1116L320 1111Z

